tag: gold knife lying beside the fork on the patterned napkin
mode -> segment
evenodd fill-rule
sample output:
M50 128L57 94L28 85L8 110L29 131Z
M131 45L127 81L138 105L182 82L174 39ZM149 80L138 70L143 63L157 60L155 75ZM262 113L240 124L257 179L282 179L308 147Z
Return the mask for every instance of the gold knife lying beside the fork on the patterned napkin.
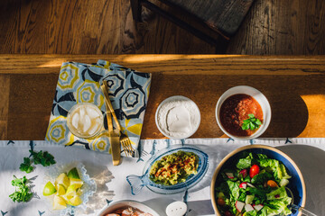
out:
M103 85L100 86L101 90L105 94L105 87ZM107 129L108 129L108 139L112 149L112 157L113 157L113 165L117 166L120 164L121 161L121 146L120 146L120 136L119 133L116 133L113 128L112 122L112 112L110 112L107 100L109 98L106 97L105 94L105 106L107 109Z

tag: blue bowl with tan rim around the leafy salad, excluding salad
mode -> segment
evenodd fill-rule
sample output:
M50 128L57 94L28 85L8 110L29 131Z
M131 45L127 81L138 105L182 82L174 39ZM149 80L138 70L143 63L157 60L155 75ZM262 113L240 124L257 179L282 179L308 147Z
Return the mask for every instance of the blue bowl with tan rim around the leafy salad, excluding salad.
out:
M265 154L267 157L277 159L283 163L283 165L287 168L288 174L292 176L289 179L290 183L287 187L293 193L293 204L298 207L304 207L306 202L306 185L304 184L302 172L298 168L298 166L293 162L292 158L284 154L281 150L265 146L265 145L250 145L245 146L242 148L237 148L234 151L230 152L228 156L224 157L220 163L218 164L214 175L212 176L212 182L210 186L210 193L211 193L211 202L213 205L213 209L216 215L221 215L218 211L217 207L217 199L215 188L218 186L216 185L216 180L218 178L218 173L222 169L222 167L227 167L230 163L234 161L234 159L243 151L253 152L255 154ZM302 215L299 211L293 211L290 216L300 216Z

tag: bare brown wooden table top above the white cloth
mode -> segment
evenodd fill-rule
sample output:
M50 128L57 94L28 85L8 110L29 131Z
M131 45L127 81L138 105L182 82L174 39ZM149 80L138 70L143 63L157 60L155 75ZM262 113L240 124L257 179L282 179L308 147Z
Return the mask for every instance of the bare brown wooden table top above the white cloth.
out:
M262 137L325 137L325 56L0 55L0 139L44 139L61 63L100 58L153 73L142 139L164 138L154 113L176 94L200 108L192 138L226 137L215 107L235 85L255 87L269 100L272 121Z

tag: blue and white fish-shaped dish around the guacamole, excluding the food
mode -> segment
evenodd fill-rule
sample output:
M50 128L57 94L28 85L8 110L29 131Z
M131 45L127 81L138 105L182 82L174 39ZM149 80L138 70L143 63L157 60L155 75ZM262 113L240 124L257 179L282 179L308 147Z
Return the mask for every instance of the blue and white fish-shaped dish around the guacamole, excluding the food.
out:
M162 157L175 153L179 150L185 152L192 152L199 157L199 167L198 174L190 175L188 179L179 184L174 185L163 185L155 184L149 178L150 168L153 166L154 162L160 160ZM144 165L144 175L128 175L126 176L127 182L131 185L131 193L137 194L140 193L142 188L146 186L149 190L154 193L170 194L170 193L181 193L186 189L194 186L199 183L203 176L207 173L209 166L208 155L201 151L199 148L194 148L189 145L175 145L172 148L164 148L160 150L157 155L150 158L147 163Z

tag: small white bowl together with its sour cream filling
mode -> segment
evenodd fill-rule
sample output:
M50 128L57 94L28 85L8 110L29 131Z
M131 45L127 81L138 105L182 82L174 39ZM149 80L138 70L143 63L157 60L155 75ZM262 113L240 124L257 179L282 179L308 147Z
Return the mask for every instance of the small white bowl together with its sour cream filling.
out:
M171 96L159 104L155 122L165 137L189 138L200 126L200 110L196 103L185 96Z

